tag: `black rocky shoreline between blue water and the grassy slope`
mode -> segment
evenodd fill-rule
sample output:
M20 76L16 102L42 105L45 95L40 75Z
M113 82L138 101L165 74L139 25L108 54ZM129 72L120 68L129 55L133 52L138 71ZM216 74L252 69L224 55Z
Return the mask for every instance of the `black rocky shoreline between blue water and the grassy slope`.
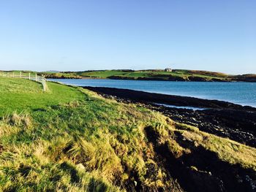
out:
M226 101L170 96L127 89L84 88L95 91L106 98L114 98L125 103L135 103L148 109L162 112L179 123L197 126L201 131L256 147L256 108L254 107L243 107ZM159 104L178 107L199 107L206 110L179 109Z

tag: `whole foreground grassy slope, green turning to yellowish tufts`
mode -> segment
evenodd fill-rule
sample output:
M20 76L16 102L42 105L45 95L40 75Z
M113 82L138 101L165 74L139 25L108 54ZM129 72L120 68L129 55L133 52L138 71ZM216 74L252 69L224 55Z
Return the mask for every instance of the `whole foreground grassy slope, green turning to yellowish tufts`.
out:
M183 191L209 165L256 172L255 148L83 88L0 77L0 104L0 191ZM188 158L192 175L173 171Z

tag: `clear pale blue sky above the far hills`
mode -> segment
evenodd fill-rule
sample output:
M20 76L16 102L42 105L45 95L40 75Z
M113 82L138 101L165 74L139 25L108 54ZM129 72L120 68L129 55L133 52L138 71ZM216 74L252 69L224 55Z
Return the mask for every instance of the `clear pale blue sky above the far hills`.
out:
M256 73L255 0L0 0L0 69Z

